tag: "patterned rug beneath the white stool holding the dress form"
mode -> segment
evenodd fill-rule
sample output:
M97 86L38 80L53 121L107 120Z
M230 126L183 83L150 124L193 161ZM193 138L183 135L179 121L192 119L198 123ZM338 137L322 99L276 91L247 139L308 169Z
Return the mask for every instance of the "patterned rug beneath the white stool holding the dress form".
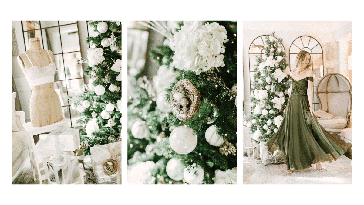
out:
M48 148L48 143L45 139L40 139L37 144L35 145L37 150L44 150ZM41 162L42 158L41 156L38 154L38 161ZM85 165L85 169L84 172L86 173L86 175L84 175L84 184L96 184L96 180L95 180L95 176L94 176L94 171L92 170L92 165L91 165L91 158L90 156L86 156L84 158L84 165ZM83 166L82 164L79 164L80 169L83 170ZM43 174L44 172L41 171L41 174ZM48 180L43 180L42 182L43 184L49 184ZM39 184L39 180L38 180L38 175L36 174L36 181L33 180L33 174L32 174L32 169L30 166L30 161L28 159L27 163L25 163L23 169L20 171L19 175L17 175L17 177L14 179L13 184Z

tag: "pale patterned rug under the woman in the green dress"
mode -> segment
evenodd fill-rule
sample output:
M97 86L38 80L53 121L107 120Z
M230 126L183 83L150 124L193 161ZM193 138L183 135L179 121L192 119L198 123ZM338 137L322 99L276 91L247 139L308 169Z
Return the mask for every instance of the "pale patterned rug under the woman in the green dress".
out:
M257 164L257 170L249 163L243 163L243 184L351 184L351 159L342 155L332 163L321 163L323 170L316 170L313 164L305 170L287 174L283 164Z

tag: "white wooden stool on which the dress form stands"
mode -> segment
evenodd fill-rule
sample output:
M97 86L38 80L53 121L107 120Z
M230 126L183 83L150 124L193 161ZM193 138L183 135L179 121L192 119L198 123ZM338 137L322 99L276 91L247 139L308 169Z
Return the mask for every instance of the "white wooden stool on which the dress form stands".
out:
M46 125L43 127L33 127L31 122L29 123L24 123L21 124L25 131L27 131L27 143L28 143L28 147L29 149L29 159L30 159L30 165L32 167L32 172L33 172L33 179L34 181L36 181L36 177L35 177L35 172L37 172L38 178L39 178L39 184L43 184L42 181L46 178L46 175L41 175L40 171L44 170L46 171L47 169L47 163L44 166L44 164L41 166L41 168L39 167L39 162L38 162L38 158L37 158L37 151L35 149L35 143L34 143L34 135L39 135L45 132L52 132L55 129L57 129L59 126L64 126L64 127L68 127L68 123L70 122L69 119L67 118L63 118L63 120L60 120L56 123L50 124L50 125ZM48 172L48 170L47 170Z

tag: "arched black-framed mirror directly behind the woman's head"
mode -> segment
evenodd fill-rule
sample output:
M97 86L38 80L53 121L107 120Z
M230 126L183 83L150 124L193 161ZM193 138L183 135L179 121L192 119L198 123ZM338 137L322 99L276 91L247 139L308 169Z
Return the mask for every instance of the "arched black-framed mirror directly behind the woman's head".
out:
M319 102L316 96L316 87L318 81L324 76L324 58L320 43L311 36L300 36L296 38L289 48L289 67L292 70L296 66L296 57L298 52L305 50L311 55L313 70L313 107L316 111Z

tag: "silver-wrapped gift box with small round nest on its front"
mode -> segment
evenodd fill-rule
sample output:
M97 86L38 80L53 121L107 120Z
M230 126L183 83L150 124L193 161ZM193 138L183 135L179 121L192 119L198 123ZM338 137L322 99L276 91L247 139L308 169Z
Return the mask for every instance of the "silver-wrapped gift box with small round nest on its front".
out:
M121 142L90 147L92 169L98 184L121 184ZM103 163L108 159L118 160L118 170L111 175L105 173Z

